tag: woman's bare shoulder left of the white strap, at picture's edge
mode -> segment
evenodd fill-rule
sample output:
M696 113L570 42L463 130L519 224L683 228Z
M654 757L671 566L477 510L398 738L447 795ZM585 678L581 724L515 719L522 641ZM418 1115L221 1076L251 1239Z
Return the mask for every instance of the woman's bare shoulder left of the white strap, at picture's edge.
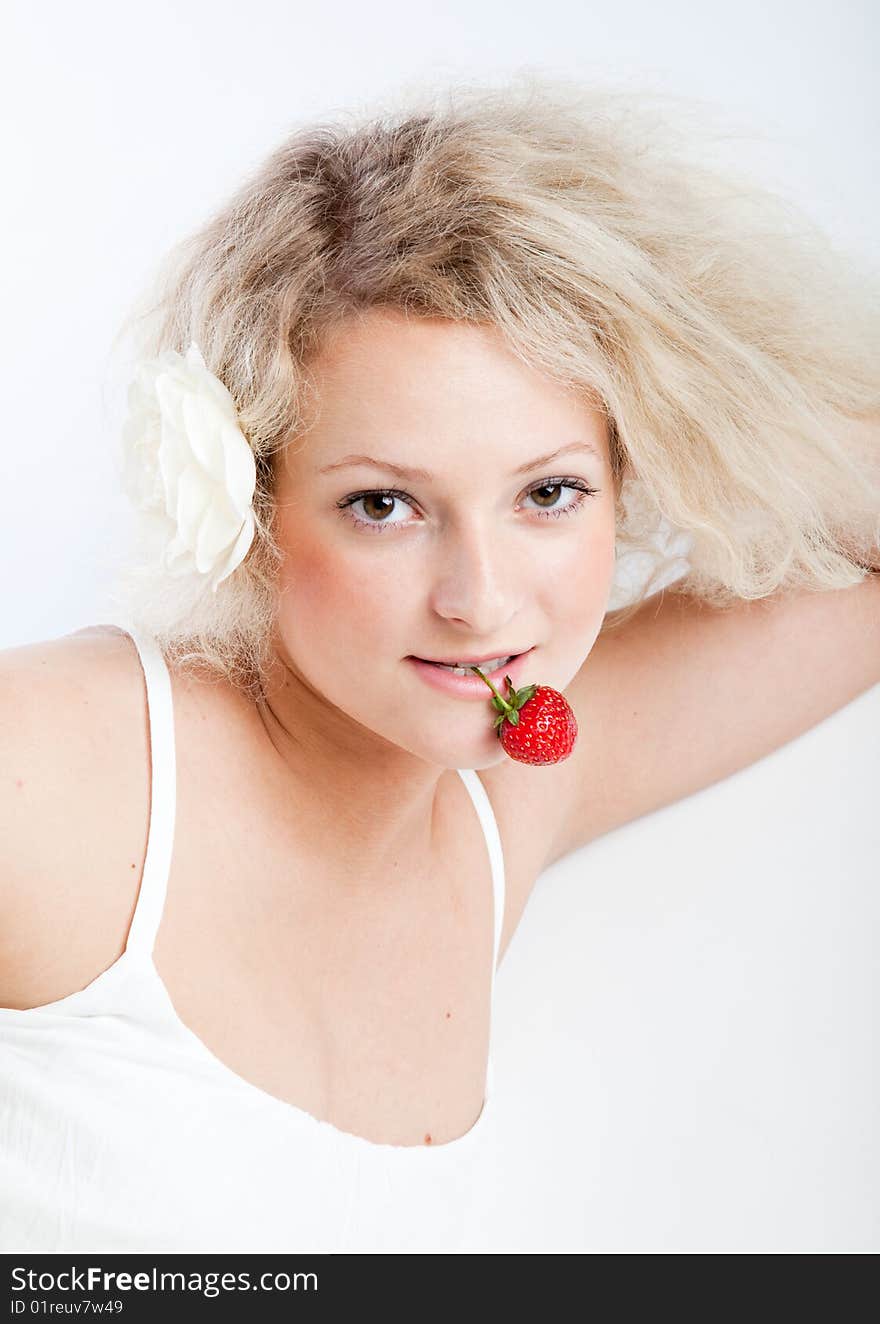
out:
M143 673L91 626L0 651L0 1005L83 988L124 948L150 805Z

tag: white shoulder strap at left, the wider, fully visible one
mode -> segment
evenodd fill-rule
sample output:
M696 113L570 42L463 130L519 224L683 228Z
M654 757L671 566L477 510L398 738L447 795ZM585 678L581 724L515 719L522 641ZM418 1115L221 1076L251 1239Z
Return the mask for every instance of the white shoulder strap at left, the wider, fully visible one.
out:
M171 851L175 837L177 767L171 675L161 649L143 630L126 625L140 658L147 686L150 726L150 828L143 878L134 919L128 928L127 952L151 956L165 904Z

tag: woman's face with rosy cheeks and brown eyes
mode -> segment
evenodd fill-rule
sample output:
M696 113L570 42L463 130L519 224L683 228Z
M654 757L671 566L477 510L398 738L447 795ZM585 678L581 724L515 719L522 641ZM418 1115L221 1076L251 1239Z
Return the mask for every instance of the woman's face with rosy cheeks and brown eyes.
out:
M490 688L446 692L413 657L531 650L516 685L572 681L614 573L605 420L492 328L385 308L312 371L316 421L277 459L287 702L299 685L310 712L443 768L490 767L506 757Z

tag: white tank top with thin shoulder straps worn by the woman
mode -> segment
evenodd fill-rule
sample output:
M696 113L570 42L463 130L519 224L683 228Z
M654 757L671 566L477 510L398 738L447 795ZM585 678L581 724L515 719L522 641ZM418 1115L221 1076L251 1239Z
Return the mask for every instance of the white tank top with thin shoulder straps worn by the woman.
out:
M175 829L171 678L156 641L124 630L138 647L150 715L143 878L126 949L109 969L54 1002L0 1008L0 1250L479 1250L491 1037L471 1129L447 1144L393 1145L250 1084L177 1017L152 961ZM491 863L491 1013L502 842L476 772L457 771Z

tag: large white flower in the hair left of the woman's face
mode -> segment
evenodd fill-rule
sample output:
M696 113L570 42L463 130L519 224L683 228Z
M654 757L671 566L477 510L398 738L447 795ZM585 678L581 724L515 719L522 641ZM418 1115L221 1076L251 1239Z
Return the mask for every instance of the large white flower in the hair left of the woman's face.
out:
M193 340L140 363L128 387L122 481L154 520L173 576L200 575L212 592L254 538L254 453L236 402Z

